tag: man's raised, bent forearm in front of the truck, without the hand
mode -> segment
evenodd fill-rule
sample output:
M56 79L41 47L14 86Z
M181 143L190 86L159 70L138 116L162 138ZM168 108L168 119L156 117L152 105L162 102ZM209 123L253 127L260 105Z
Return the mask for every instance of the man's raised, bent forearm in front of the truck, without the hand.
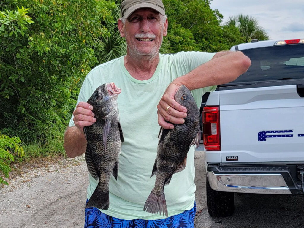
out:
M234 81L250 67L250 59L242 52L219 52L212 60L173 81L190 90Z

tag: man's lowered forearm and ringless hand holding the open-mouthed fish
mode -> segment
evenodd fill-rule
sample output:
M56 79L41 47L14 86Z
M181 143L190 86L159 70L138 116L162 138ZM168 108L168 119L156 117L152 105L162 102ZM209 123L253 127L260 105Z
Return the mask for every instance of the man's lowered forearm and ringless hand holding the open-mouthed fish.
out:
M85 126L90 126L96 122L93 107L86 102L79 102L73 112L73 127L68 127L64 133L64 149L68 157L77 157L85 153L87 140L83 132Z

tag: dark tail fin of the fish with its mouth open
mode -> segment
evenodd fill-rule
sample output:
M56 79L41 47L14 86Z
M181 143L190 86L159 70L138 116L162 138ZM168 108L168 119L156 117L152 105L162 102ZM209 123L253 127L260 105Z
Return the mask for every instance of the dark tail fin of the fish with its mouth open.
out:
M104 192L102 189L98 188L98 185L85 207L96 207L98 209L107 210L109 208L109 190Z

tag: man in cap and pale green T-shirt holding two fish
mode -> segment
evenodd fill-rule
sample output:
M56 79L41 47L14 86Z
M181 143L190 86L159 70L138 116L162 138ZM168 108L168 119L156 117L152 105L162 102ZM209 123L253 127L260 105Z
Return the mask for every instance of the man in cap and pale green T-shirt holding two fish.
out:
M95 123L92 106L86 101L95 89L114 82L120 123L124 134L117 181L111 177L108 210L86 209L85 227L194 227L194 147L188 152L185 170L174 174L165 186L168 218L143 211L154 178L150 178L157 150L159 126L172 129L184 123L187 110L174 100L180 85L187 86L200 106L202 95L216 85L233 81L247 71L250 59L241 52L181 52L161 55L168 20L161 0L123 0L118 21L127 43L126 56L95 67L85 78L76 109L64 136L68 157L85 153L83 127ZM210 61L209 61L210 60ZM170 123L168 123L168 122ZM87 198L97 186L89 176ZM182 219L181 219L182 218ZM162 224L162 225L161 225Z

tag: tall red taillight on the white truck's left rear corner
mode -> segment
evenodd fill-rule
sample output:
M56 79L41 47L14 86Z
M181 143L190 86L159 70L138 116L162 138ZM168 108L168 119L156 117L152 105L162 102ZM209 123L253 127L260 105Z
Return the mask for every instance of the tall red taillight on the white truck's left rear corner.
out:
M203 138L206 150L221 149L218 106L205 106L203 109Z

